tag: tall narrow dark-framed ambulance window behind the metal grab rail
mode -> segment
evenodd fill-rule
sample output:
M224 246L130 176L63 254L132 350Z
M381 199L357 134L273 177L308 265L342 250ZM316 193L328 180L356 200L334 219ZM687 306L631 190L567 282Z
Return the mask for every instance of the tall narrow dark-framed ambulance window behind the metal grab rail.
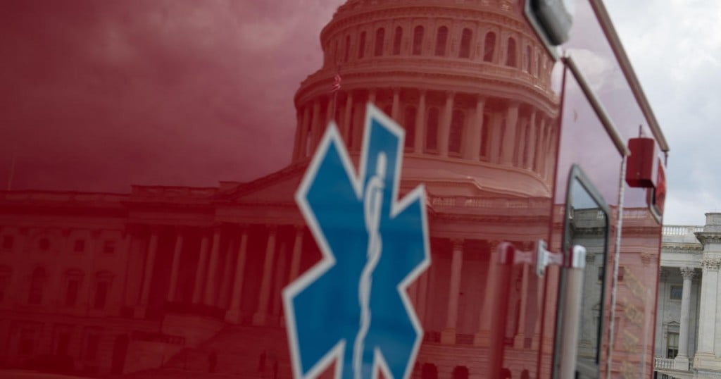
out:
M574 245L586 249L575 377L599 378L609 207L578 166L572 167L570 173L565 214L564 251L570 251ZM565 284L565 277L562 277L559 295L568 289ZM562 319L561 313L559 310L557 320ZM557 325L557 333L559 331ZM556 352L559 352L558 347ZM558 363L559 358L554 361Z

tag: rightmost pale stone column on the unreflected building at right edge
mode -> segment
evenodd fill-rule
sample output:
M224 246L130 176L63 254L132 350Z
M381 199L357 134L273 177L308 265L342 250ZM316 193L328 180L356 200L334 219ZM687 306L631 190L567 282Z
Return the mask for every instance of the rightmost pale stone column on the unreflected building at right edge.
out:
M700 240L700 238L699 238ZM716 302L720 259L703 258L701 278L701 307L699 309L699 344L694 367L715 366L714 340L716 335Z

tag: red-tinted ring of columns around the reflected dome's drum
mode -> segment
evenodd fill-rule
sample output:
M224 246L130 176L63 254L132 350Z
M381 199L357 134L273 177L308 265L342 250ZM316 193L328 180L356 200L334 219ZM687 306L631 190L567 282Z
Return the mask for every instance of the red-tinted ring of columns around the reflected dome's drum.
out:
M314 152L336 121L348 147L361 147L366 102L406 128L406 152L512 165L547 178L554 154L554 118L515 100L453 91L346 90L298 105L293 160Z

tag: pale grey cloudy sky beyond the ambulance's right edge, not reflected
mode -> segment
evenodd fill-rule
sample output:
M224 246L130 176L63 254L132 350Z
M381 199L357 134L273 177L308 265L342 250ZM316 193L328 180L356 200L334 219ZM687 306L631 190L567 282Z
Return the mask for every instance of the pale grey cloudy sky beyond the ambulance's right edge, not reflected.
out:
M671 146L664 222L703 225L721 212L721 2L606 7Z

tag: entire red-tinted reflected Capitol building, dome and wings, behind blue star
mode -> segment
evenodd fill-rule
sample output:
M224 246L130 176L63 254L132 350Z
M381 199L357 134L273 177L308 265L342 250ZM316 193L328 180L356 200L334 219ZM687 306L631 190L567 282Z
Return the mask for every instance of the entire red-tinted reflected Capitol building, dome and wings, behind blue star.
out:
M491 298L491 252L547 235L553 61L509 0L350 0L320 41L324 64L296 92L292 161L278 172L213 188L0 193L1 365L200 378L216 354L218 373L276 365L287 378L280 292L320 257L293 193L329 121L358 164L373 103L406 129L400 192L428 193L433 265L409 293L425 328L414 375L482 375L488 358L469 357L489 354L493 310L470 299ZM534 274L514 275L499 333L523 362L509 375L524 378L549 342Z

